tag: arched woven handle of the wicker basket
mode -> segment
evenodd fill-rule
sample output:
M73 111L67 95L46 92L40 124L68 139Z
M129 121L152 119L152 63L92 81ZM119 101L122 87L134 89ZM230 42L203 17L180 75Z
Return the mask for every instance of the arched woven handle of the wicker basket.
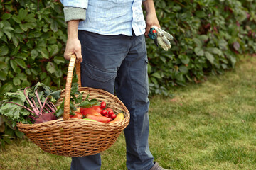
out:
M71 84L73 78L73 71L75 67L76 74L78 76L78 86L81 86L81 72L80 72L80 62L76 62L76 55L73 54L70 57L70 63L68 64L68 74L67 80L65 85L65 101L64 101L64 113L63 113L63 120L70 119L70 91L71 91Z

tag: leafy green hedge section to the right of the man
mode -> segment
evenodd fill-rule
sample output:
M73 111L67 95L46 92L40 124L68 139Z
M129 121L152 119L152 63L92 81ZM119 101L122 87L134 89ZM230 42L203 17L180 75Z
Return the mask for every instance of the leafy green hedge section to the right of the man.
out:
M159 22L174 35L169 52L147 40L151 94L203 81L235 67L239 54L255 53L252 0L155 1Z

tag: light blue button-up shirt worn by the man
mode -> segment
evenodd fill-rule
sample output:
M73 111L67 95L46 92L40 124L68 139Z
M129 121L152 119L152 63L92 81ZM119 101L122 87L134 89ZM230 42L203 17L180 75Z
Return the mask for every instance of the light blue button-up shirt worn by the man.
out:
M78 30L87 30L102 35L135 35L145 33L146 23L142 0L62 0L64 7L86 9L85 21L80 21Z

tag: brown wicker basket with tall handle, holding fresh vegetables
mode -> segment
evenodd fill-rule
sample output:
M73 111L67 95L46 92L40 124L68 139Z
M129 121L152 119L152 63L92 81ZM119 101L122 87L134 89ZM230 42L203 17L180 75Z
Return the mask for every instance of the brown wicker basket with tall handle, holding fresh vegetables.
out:
M61 92L60 100L56 104L60 105L65 97L63 118L38 124L17 123L18 130L24 132L43 151L67 157L83 157L105 151L114 144L129 123L129 111L122 101L107 91L87 87L79 87L79 90L84 92L84 99L90 94L90 98L105 101L114 113L124 113L124 120L100 123L70 118L70 89L75 59L75 55L72 55L68 66L66 89ZM76 69L80 84L80 63L76 65Z

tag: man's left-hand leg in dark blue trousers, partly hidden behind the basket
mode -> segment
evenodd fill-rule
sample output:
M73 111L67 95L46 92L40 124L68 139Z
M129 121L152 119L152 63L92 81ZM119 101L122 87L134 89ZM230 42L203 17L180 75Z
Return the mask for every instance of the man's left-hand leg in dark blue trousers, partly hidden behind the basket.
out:
M107 36L79 31L82 45L82 86L99 88L114 94L117 69L129 50L129 37ZM72 158L71 170L100 170L100 154Z

